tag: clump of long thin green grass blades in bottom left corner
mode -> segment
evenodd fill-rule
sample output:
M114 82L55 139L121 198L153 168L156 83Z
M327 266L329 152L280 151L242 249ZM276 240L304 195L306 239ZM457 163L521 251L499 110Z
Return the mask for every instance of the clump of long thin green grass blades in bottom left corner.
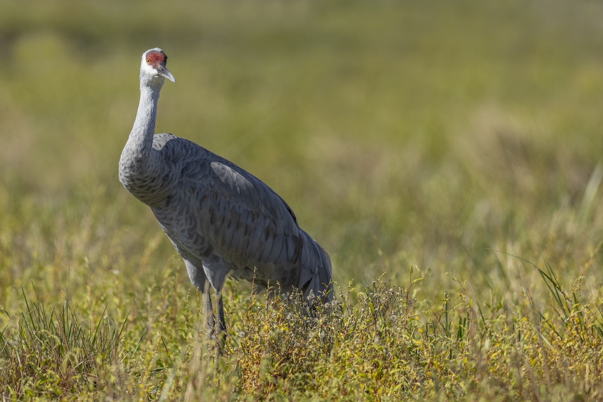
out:
M30 301L24 293L25 309L17 330L0 336L4 397L34 396L43 389L48 396L85 388L95 381L99 369L117 361L118 344L127 321L121 326L105 312L88 322L66 300L63 306L46 307ZM9 316L10 318L10 316Z

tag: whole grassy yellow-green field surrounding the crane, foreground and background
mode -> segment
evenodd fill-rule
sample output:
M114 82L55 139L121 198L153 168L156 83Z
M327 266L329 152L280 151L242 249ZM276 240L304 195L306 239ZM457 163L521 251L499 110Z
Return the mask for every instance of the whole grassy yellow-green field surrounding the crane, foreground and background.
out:
M2 400L603 400L603 4L0 0ZM117 164L157 132L278 192L336 294L203 303Z

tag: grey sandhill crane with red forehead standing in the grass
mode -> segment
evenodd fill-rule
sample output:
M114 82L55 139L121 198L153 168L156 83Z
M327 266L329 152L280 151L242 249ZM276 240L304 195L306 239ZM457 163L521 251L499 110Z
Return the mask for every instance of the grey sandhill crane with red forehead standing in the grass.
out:
M153 210L203 294L212 337L226 330L221 290L227 274L254 291L280 286L309 300L332 299L328 254L301 230L270 187L228 160L173 134L154 134L163 83L174 76L162 49L142 54L140 103L119 159L119 181ZM217 298L215 315L209 286Z

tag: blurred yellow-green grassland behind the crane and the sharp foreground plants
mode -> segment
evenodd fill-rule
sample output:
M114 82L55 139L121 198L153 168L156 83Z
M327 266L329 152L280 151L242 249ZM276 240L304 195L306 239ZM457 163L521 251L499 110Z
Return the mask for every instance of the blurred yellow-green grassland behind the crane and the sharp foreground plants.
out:
M586 0L1 0L0 304L29 281L189 286L117 177L156 46L177 79L157 132L273 187L343 286L411 265L425 294L446 272L531 286L509 253L596 293L601 21Z

